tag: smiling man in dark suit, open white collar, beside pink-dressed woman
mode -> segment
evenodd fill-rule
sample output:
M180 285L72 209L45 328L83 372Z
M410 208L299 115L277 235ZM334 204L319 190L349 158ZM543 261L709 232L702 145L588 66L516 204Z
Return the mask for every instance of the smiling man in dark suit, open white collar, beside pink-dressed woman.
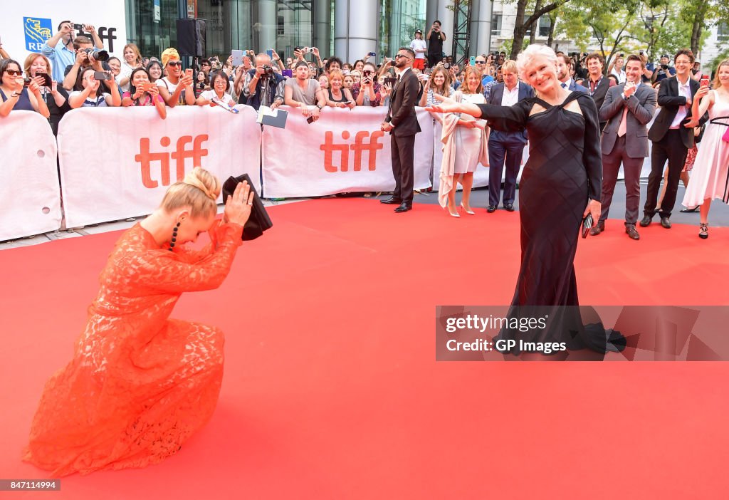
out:
M644 217L640 222L646 227L652 222L658 204L658 190L663 179L663 166L668 160L668 181L666 194L660 204L660 225L666 229L671 228L671 211L676 203L676 193L679 188L681 171L686 162L686 155L694 144L693 128L685 125L691 118L691 104L693 96L699 89L699 83L691 78L693 67L693 52L682 49L676 53L674 63L676 76L663 79L658 90L658 106L660 113L655 117L652 127L648 131L648 138L653 142L651 152L651 169L648 177L648 195L643 208ZM704 115L699 120L703 125L708 119Z

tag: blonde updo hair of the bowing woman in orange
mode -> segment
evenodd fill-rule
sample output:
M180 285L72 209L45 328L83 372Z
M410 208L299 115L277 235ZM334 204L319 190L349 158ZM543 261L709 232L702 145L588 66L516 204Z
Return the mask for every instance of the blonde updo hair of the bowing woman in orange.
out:
M182 182L172 184L161 208L166 212L190 207L190 216L208 217L217 214L217 199L220 194L220 181L212 173L200 167L188 172Z

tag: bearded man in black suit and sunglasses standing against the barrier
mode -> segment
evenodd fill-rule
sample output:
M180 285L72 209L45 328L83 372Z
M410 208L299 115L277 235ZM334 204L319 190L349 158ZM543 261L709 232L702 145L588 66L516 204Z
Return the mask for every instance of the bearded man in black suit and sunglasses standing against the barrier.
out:
M397 50L394 64L397 82L392 89L387 117L380 129L390 133L392 174L395 177L395 190L392 198L380 203L398 205L397 213L413 209L413 176L415 135L420 132L415 105L418 102L420 82L410 69L415 60L415 52L409 47Z

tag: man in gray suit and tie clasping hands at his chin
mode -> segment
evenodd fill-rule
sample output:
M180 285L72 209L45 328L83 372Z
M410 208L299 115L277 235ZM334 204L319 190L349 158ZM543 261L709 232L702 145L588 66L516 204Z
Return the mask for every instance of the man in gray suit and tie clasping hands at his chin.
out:
M590 230L599 235L605 230L615 190L617 171L623 163L625 173L625 233L634 240L640 203L640 171L648 156L648 130L655 112L655 90L641 83L644 63L637 55L629 55L625 65L625 83L611 87L600 108L600 120L607 120L602 133L602 212L600 220Z

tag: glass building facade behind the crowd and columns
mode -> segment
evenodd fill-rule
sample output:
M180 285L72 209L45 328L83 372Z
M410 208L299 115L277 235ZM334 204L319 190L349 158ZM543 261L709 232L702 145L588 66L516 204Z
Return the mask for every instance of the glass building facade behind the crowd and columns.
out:
M351 1L351 0L349 0ZM366 0L357 0L366 1ZM142 55L159 57L176 47L176 20L206 20L206 52L225 60L233 49L264 52L275 48L288 57L294 47L319 47L321 57L334 53L336 9L347 9L347 0L125 0L130 42ZM155 20L155 3L159 18ZM370 3L370 2L368 2ZM369 8L369 7L368 7ZM378 26L378 60L391 57L409 45L414 32L426 31L426 0L372 0ZM351 19L350 23L356 23ZM376 34L376 35L375 35ZM275 46L275 47L274 47ZM352 62L352 61L350 61Z

